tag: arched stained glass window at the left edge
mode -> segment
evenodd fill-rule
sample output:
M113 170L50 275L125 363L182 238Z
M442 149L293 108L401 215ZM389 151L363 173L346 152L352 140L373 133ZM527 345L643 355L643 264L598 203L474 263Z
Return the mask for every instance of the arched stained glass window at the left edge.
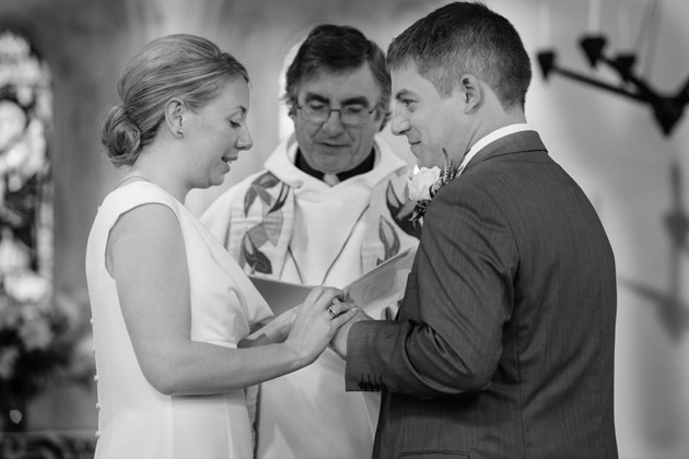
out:
M50 83L48 64L28 37L0 27L0 299L5 303L44 303L51 294Z

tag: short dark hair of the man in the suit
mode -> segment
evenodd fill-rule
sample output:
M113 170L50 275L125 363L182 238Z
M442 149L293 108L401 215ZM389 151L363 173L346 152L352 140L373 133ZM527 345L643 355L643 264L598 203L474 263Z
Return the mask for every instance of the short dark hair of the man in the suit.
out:
M532 67L522 38L505 17L478 2L455 2L420 19L387 50L390 69L416 66L441 96L465 73L487 83L503 108L524 108Z

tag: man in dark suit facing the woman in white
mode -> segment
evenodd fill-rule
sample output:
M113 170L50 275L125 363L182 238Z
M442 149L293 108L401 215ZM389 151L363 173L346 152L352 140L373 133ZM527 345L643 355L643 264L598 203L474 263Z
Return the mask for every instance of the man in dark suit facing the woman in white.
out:
M617 458L612 250L524 116L513 25L480 3L432 12L388 49L392 129L434 196L396 320L332 341L347 390L382 391L374 458ZM446 152L446 153L445 153Z

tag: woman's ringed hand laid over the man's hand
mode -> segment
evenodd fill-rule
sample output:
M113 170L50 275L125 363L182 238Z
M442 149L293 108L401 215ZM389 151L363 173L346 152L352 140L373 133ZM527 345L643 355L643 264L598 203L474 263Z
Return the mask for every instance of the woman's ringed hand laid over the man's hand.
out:
M315 287L304 303L296 308L296 318L285 340L305 362L315 361L328 345L339 327L357 314L349 303L340 303L343 297L337 289Z

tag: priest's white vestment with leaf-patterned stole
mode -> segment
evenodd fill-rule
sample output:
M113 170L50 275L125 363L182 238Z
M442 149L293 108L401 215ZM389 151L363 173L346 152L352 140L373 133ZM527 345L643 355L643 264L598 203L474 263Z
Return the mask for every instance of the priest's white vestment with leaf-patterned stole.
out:
M406 204L407 164L376 138L371 172L332 187L294 166L296 145L222 195L201 220L246 272L342 287L418 244ZM401 223L400 223L401 222ZM366 310L376 318L396 313ZM260 459L371 456L379 396L344 391L344 361L327 349L308 367L264 382L257 412Z

